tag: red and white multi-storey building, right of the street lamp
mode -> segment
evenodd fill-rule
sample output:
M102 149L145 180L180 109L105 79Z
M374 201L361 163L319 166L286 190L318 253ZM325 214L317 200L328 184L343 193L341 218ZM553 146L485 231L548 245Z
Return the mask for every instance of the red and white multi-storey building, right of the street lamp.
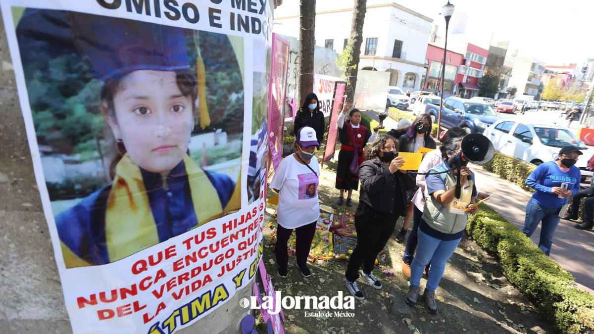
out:
M460 97L470 99L470 97L478 95L478 80L482 77L488 55L489 51L487 49L470 43L466 44L466 54L456 75L456 83L460 83L458 85L458 95Z

